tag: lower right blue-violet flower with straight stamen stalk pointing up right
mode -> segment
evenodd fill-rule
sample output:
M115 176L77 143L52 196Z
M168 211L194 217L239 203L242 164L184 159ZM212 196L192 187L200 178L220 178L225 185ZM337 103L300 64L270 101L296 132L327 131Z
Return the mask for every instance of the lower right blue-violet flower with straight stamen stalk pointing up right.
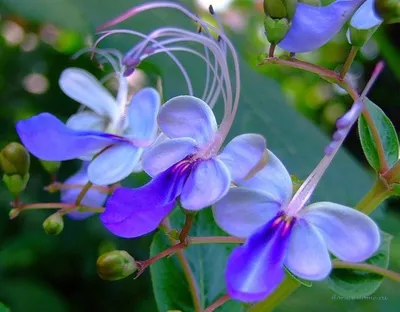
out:
M226 267L228 293L255 302L271 294L285 276L284 266L307 280L322 280L332 269L329 252L350 262L368 259L380 245L377 225L365 214L331 202L308 205L316 186L358 119L362 100L337 121L325 156L292 197L292 182L279 159L241 181L214 207L217 224L246 238Z

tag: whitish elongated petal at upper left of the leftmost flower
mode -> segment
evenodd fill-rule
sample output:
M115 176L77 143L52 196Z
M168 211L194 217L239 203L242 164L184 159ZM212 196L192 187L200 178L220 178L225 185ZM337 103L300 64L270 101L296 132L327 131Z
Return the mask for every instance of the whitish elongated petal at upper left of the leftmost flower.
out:
M98 115L112 120L118 107L110 92L89 72L80 68L64 70L59 79L61 90L71 99L87 106Z

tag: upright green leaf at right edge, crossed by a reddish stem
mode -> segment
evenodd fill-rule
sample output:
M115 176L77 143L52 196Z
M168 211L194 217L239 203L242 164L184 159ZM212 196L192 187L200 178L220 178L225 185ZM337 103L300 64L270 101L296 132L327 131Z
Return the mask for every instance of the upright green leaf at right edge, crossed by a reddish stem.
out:
M377 105L370 100L366 100L366 106L382 141L385 159L391 168L399 160L399 139L396 129L390 119ZM361 146L369 164L376 171L379 171L381 169L381 163L379 161L376 143L364 116L361 116L358 121L358 132L360 134Z

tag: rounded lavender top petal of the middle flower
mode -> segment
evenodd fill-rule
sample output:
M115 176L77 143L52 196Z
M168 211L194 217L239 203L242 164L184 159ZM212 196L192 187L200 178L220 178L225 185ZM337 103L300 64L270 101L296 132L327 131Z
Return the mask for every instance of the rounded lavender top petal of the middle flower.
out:
M161 130L170 138L189 137L204 144L212 140L217 122L211 108L194 96L177 96L165 103L158 115Z

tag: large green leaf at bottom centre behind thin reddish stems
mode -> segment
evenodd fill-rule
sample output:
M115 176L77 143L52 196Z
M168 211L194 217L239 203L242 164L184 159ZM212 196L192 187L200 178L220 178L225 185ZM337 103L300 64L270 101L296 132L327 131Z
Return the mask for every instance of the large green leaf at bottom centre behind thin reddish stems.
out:
M170 216L173 229L181 229L184 214L176 209ZM191 236L226 235L213 220L211 209L199 212L190 231ZM171 246L164 233L157 233L151 244L150 256L155 256ZM202 309L226 294L224 271L233 244L193 245L184 253L194 274ZM160 312L168 310L194 311L189 287L177 256L162 259L150 267L154 294ZM228 301L219 312L241 312L239 302Z

